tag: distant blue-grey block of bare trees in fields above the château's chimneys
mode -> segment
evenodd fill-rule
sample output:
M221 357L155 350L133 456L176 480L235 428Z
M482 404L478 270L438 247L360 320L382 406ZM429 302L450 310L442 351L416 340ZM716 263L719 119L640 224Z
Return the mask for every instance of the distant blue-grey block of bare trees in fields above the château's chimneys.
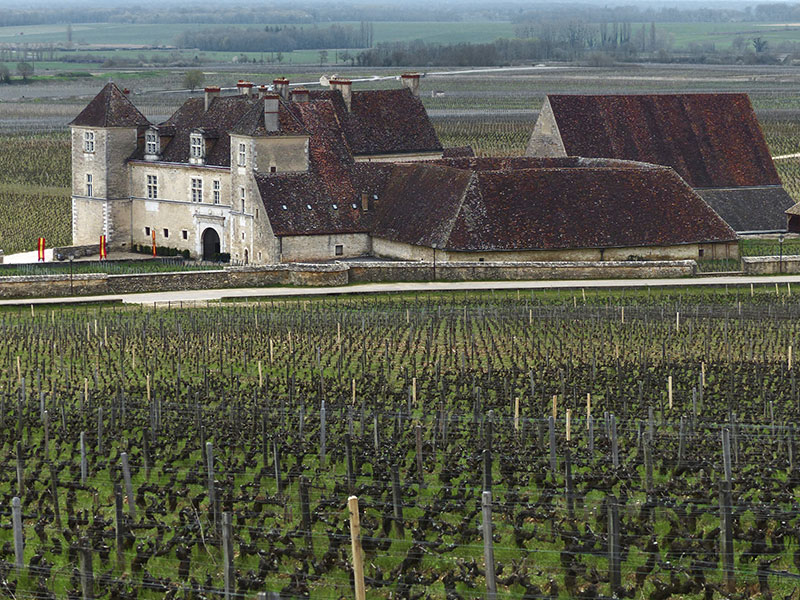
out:
M373 27L362 22L328 27L267 26L214 27L185 31L175 40L179 48L197 48L209 52L291 52L320 48L368 48L372 45Z

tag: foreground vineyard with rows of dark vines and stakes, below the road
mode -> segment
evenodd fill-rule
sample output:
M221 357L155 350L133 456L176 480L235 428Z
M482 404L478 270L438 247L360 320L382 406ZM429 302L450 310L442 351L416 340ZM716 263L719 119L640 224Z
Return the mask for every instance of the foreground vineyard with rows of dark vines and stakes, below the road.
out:
M791 596L792 292L4 310L3 589Z

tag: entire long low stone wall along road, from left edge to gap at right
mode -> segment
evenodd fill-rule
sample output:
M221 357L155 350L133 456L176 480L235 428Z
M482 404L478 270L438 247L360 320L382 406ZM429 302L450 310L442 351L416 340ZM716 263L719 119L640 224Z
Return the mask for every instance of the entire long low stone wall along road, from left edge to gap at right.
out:
M800 260L797 261L800 272ZM475 262L436 265L437 281L545 279L641 279L694 275L697 264L685 261L641 262ZM268 286L343 286L349 283L431 281L433 264L357 261L328 264L281 264L226 267L213 271L177 271L133 275L31 275L0 277L0 298L37 298L169 292Z

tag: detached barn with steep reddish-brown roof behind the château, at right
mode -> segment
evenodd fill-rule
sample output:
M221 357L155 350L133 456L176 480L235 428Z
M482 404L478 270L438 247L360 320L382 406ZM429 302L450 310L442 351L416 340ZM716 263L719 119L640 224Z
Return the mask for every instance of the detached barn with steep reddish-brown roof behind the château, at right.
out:
M794 204L747 94L549 95L527 155L672 167L739 233L785 231Z

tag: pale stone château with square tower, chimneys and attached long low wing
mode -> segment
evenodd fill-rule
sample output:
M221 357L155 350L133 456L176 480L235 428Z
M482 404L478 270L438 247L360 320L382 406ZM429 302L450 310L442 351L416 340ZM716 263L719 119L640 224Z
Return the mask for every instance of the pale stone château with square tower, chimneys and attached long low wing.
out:
M209 87L152 124L113 83L72 126L73 242L272 264L735 257L736 236L670 168L471 157L398 89Z

